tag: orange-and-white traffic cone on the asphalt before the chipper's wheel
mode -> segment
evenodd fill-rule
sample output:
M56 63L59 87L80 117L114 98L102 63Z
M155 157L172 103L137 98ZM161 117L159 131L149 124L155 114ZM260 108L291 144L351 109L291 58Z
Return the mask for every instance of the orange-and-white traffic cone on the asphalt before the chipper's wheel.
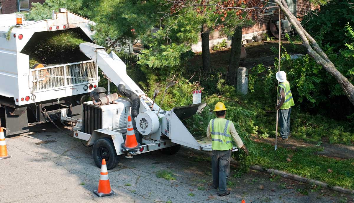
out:
M110 188L106 159L102 159L101 175L98 181L98 190L93 191L98 197L110 196L115 194Z

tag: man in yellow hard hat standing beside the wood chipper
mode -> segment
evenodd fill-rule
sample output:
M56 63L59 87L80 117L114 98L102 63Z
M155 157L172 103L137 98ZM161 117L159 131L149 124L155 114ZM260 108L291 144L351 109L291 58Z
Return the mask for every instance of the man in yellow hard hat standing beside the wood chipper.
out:
M212 157L211 166L213 174L213 187L219 188L219 196L226 196L230 191L226 190L227 178L230 174L230 161L232 138L238 148L244 150L248 155L248 150L236 132L235 126L230 120L225 119L226 108L222 102L215 105L216 119L211 119L206 130L207 138L211 138Z

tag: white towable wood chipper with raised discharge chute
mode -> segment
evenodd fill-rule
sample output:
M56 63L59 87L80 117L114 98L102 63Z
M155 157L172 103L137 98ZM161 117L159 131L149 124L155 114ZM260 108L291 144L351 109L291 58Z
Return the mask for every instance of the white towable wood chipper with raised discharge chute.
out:
M103 46L81 43L80 50L95 61L104 74L127 97L115 98L107 95L96 101L82 104L82 119L76 122L74 137L93 145L93 159L101 166L102 159L107 161L107 168L114 168L119 162L119 155L133 155L161 150L162 153L176 153L181 145L198 150L212 150L211 141L197 141L183 125L183 119L199 113L206 104L197 104L159 111L159 106L141 90L126 74L126 67L113 52L108 55ZM113 98L113 99L112 99ZM103 102L104 101L104 102ZM134 132L139 145L125 148L127 117L132 115ZM71 119L62 111L62 120Z

